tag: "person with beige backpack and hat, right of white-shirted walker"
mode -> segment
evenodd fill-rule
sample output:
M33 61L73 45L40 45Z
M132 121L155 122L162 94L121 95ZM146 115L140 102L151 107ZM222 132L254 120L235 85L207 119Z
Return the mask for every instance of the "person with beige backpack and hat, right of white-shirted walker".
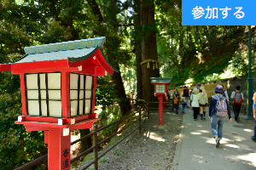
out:
M204 87L200 88L200 93L198 94L198 101L200 105L201 120L203 120L203 117L204 119L206 119L206 108L208 104L208 96Z

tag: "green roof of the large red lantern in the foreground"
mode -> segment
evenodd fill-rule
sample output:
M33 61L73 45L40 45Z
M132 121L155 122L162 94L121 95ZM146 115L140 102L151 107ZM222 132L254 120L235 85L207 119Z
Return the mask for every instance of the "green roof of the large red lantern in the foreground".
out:
M13 63L29 63L49 60L67 59L70 62L76 62L89 58L100 49L102 56L113 71L118 72L105 57L102 52L102 46L106 42L106 37L95 37L89 39L75 40L70 42L57 42L45 45L38 45L24 48L26 55Z

